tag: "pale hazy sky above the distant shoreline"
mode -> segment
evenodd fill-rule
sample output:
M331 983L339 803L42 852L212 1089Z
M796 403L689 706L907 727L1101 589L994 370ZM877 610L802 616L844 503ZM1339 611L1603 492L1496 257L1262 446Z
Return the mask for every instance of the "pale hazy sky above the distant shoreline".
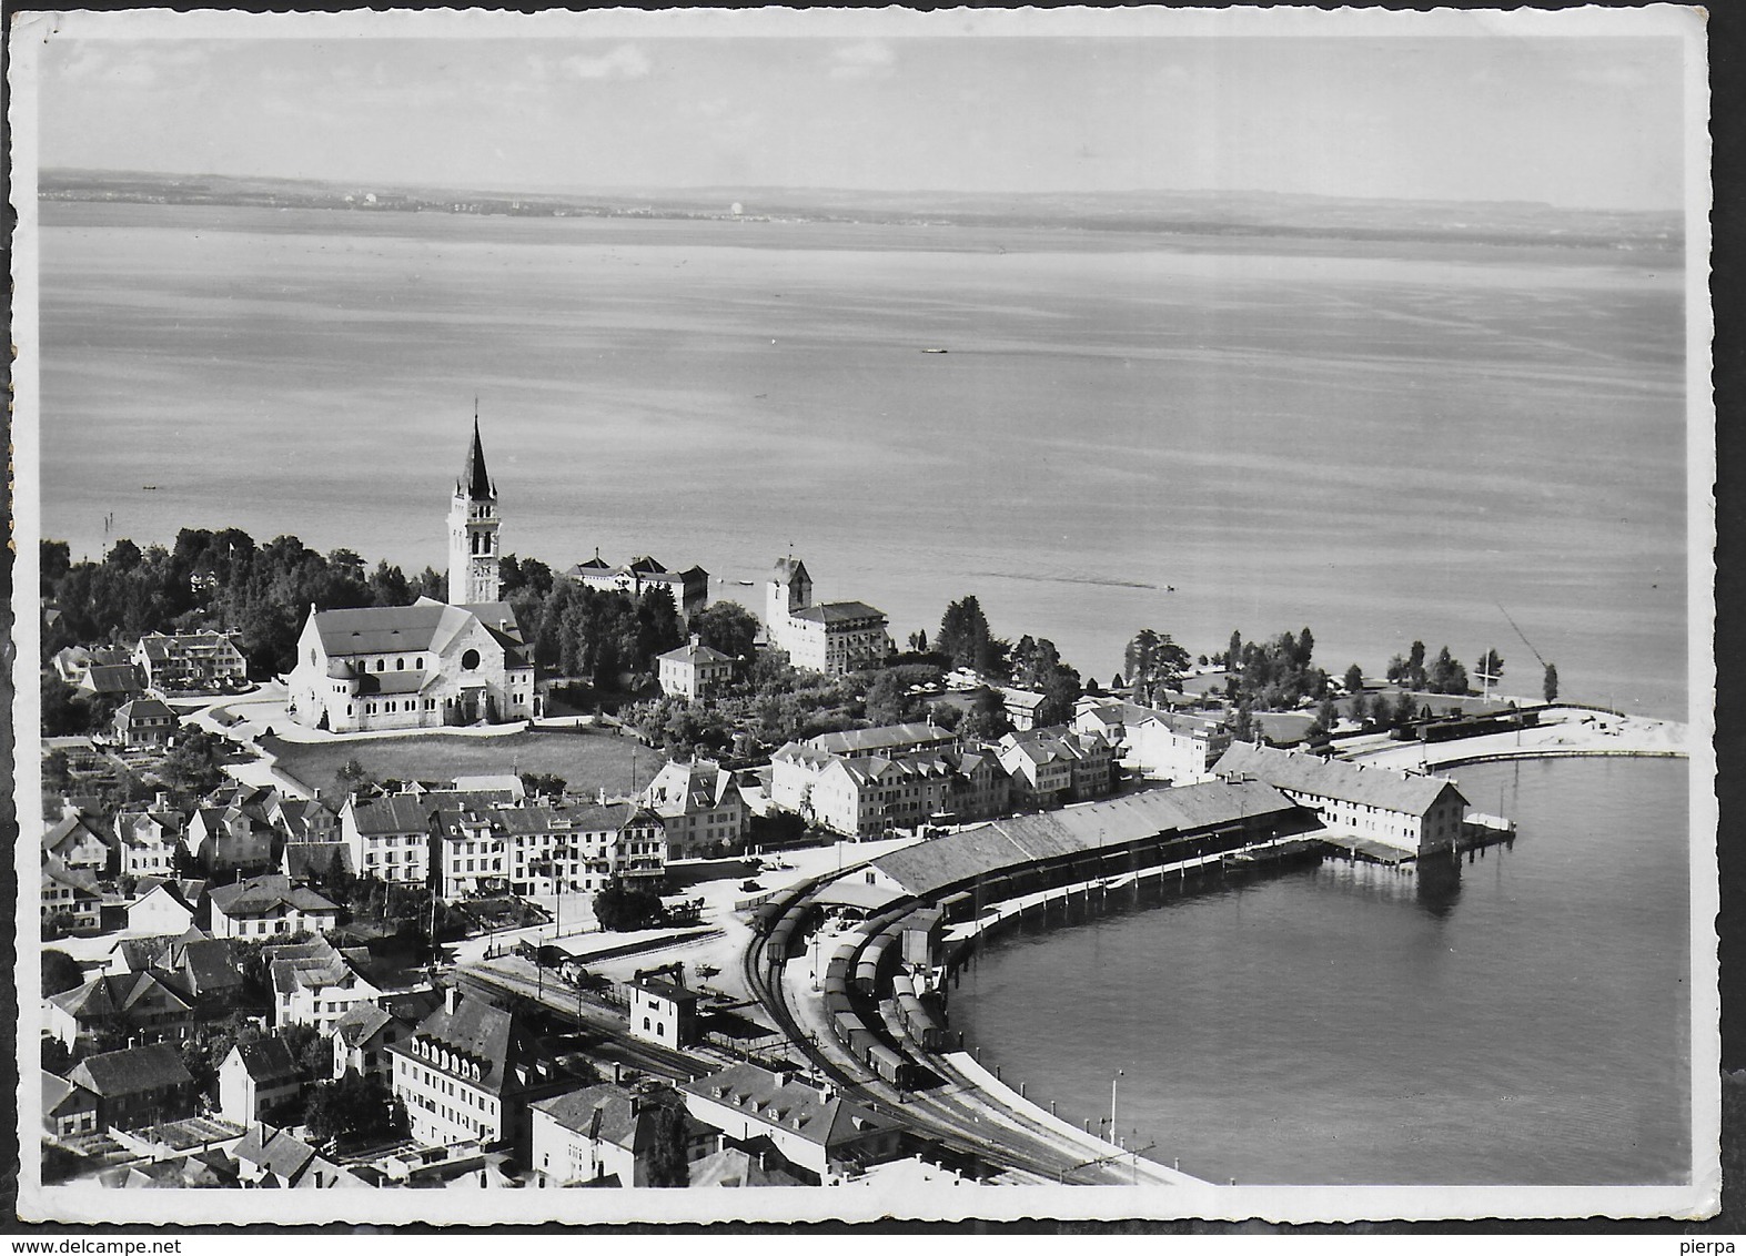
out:
M835 37L805 17L796 38L66 31L42 45L40 164L529 190L1681 202L1676 38Z

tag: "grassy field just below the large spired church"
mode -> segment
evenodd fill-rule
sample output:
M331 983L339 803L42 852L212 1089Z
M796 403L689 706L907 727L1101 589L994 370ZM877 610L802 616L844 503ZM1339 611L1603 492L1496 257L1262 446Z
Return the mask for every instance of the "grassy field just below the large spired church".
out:
M492 773L552 773L573 790L625 792L648 785L660 771L662 755L613 733L529 731L499 738L403 736L309 745L262 738L281 771L306 785L327 790L333 773L356 759L377 780L452 780Z

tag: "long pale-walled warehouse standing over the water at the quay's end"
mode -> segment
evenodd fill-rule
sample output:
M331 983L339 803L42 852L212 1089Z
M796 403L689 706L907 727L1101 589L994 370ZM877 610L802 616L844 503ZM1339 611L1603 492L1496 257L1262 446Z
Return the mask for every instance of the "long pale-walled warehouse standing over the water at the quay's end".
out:
M1414 855L1454 850L1467 799L1454 782L1297 750L1236 741L1213 773L1259 780L1313 809L1323 825Z

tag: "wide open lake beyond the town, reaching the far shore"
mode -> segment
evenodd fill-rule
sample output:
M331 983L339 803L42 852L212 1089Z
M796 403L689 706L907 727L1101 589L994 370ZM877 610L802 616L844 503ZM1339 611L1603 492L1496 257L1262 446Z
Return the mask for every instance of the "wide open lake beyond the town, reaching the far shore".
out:
M51 202L44 530L440 569L478 394L552 565L761 611L793 546L899 640L976 593L1103 680L1142 626L1310 625L1336 673L1419 637L1538 696L1503 607L1566 696L1683 717L1678 260L1371 253Z

